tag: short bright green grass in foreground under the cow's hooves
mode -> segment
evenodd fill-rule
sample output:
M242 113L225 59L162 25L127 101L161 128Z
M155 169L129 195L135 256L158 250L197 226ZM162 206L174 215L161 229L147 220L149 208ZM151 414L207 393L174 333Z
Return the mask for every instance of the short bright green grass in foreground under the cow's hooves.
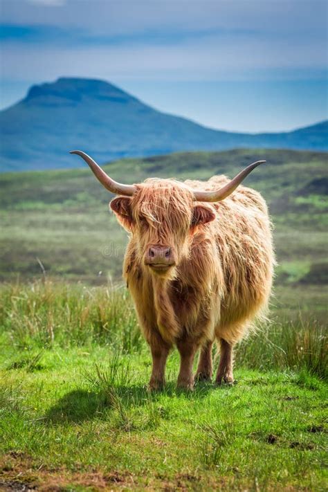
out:
M166 389L149 394L144 352L54 347L34 371L8 367L8 357L17 352L1 354L5 483L325 490L327 388L305 370L239 368L233 388L203 384L189 394L175 388L172 354Z

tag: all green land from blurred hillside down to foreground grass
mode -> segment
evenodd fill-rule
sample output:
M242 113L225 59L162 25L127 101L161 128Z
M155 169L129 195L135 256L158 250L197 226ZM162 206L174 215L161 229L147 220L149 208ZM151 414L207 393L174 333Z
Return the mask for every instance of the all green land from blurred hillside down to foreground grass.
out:
M120 281L127 237L88 169L0 175L0 490L327 490L327 154L236 150L107 165L247 183L275 225L271 321L238 345L233 387L150 394Z

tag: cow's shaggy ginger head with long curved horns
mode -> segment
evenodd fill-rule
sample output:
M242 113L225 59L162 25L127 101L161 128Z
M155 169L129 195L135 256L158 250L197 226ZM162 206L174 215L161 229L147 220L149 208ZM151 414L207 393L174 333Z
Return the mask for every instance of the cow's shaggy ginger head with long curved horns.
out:
M104 188L120 195L110 206L120 224L134 235L140 263L156 275L169 277L174 277L181 259L188 257L194 231L216 217L214 208L204 202L225 199L250 171L265 162L249 165L220 190L203 191L192 190L173 179L123 185L107 176L84 152L74 150L71 154L86 161Z

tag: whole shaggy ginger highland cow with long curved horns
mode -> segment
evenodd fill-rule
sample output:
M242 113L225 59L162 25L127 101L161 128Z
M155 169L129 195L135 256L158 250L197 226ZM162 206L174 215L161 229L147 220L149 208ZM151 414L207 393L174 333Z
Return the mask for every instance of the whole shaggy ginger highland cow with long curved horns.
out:
M210 380L215 340L216 383L232 384L233 346L264 313L271 292L274 255L266 203L255 190L239 186L264 161L232 181L213 176L207 182L146 179L122 185L84 152L72 153L120 195L110 207L130 233L123 272L152 352L149 388L164 385L174 346L181 357L179 387Z

